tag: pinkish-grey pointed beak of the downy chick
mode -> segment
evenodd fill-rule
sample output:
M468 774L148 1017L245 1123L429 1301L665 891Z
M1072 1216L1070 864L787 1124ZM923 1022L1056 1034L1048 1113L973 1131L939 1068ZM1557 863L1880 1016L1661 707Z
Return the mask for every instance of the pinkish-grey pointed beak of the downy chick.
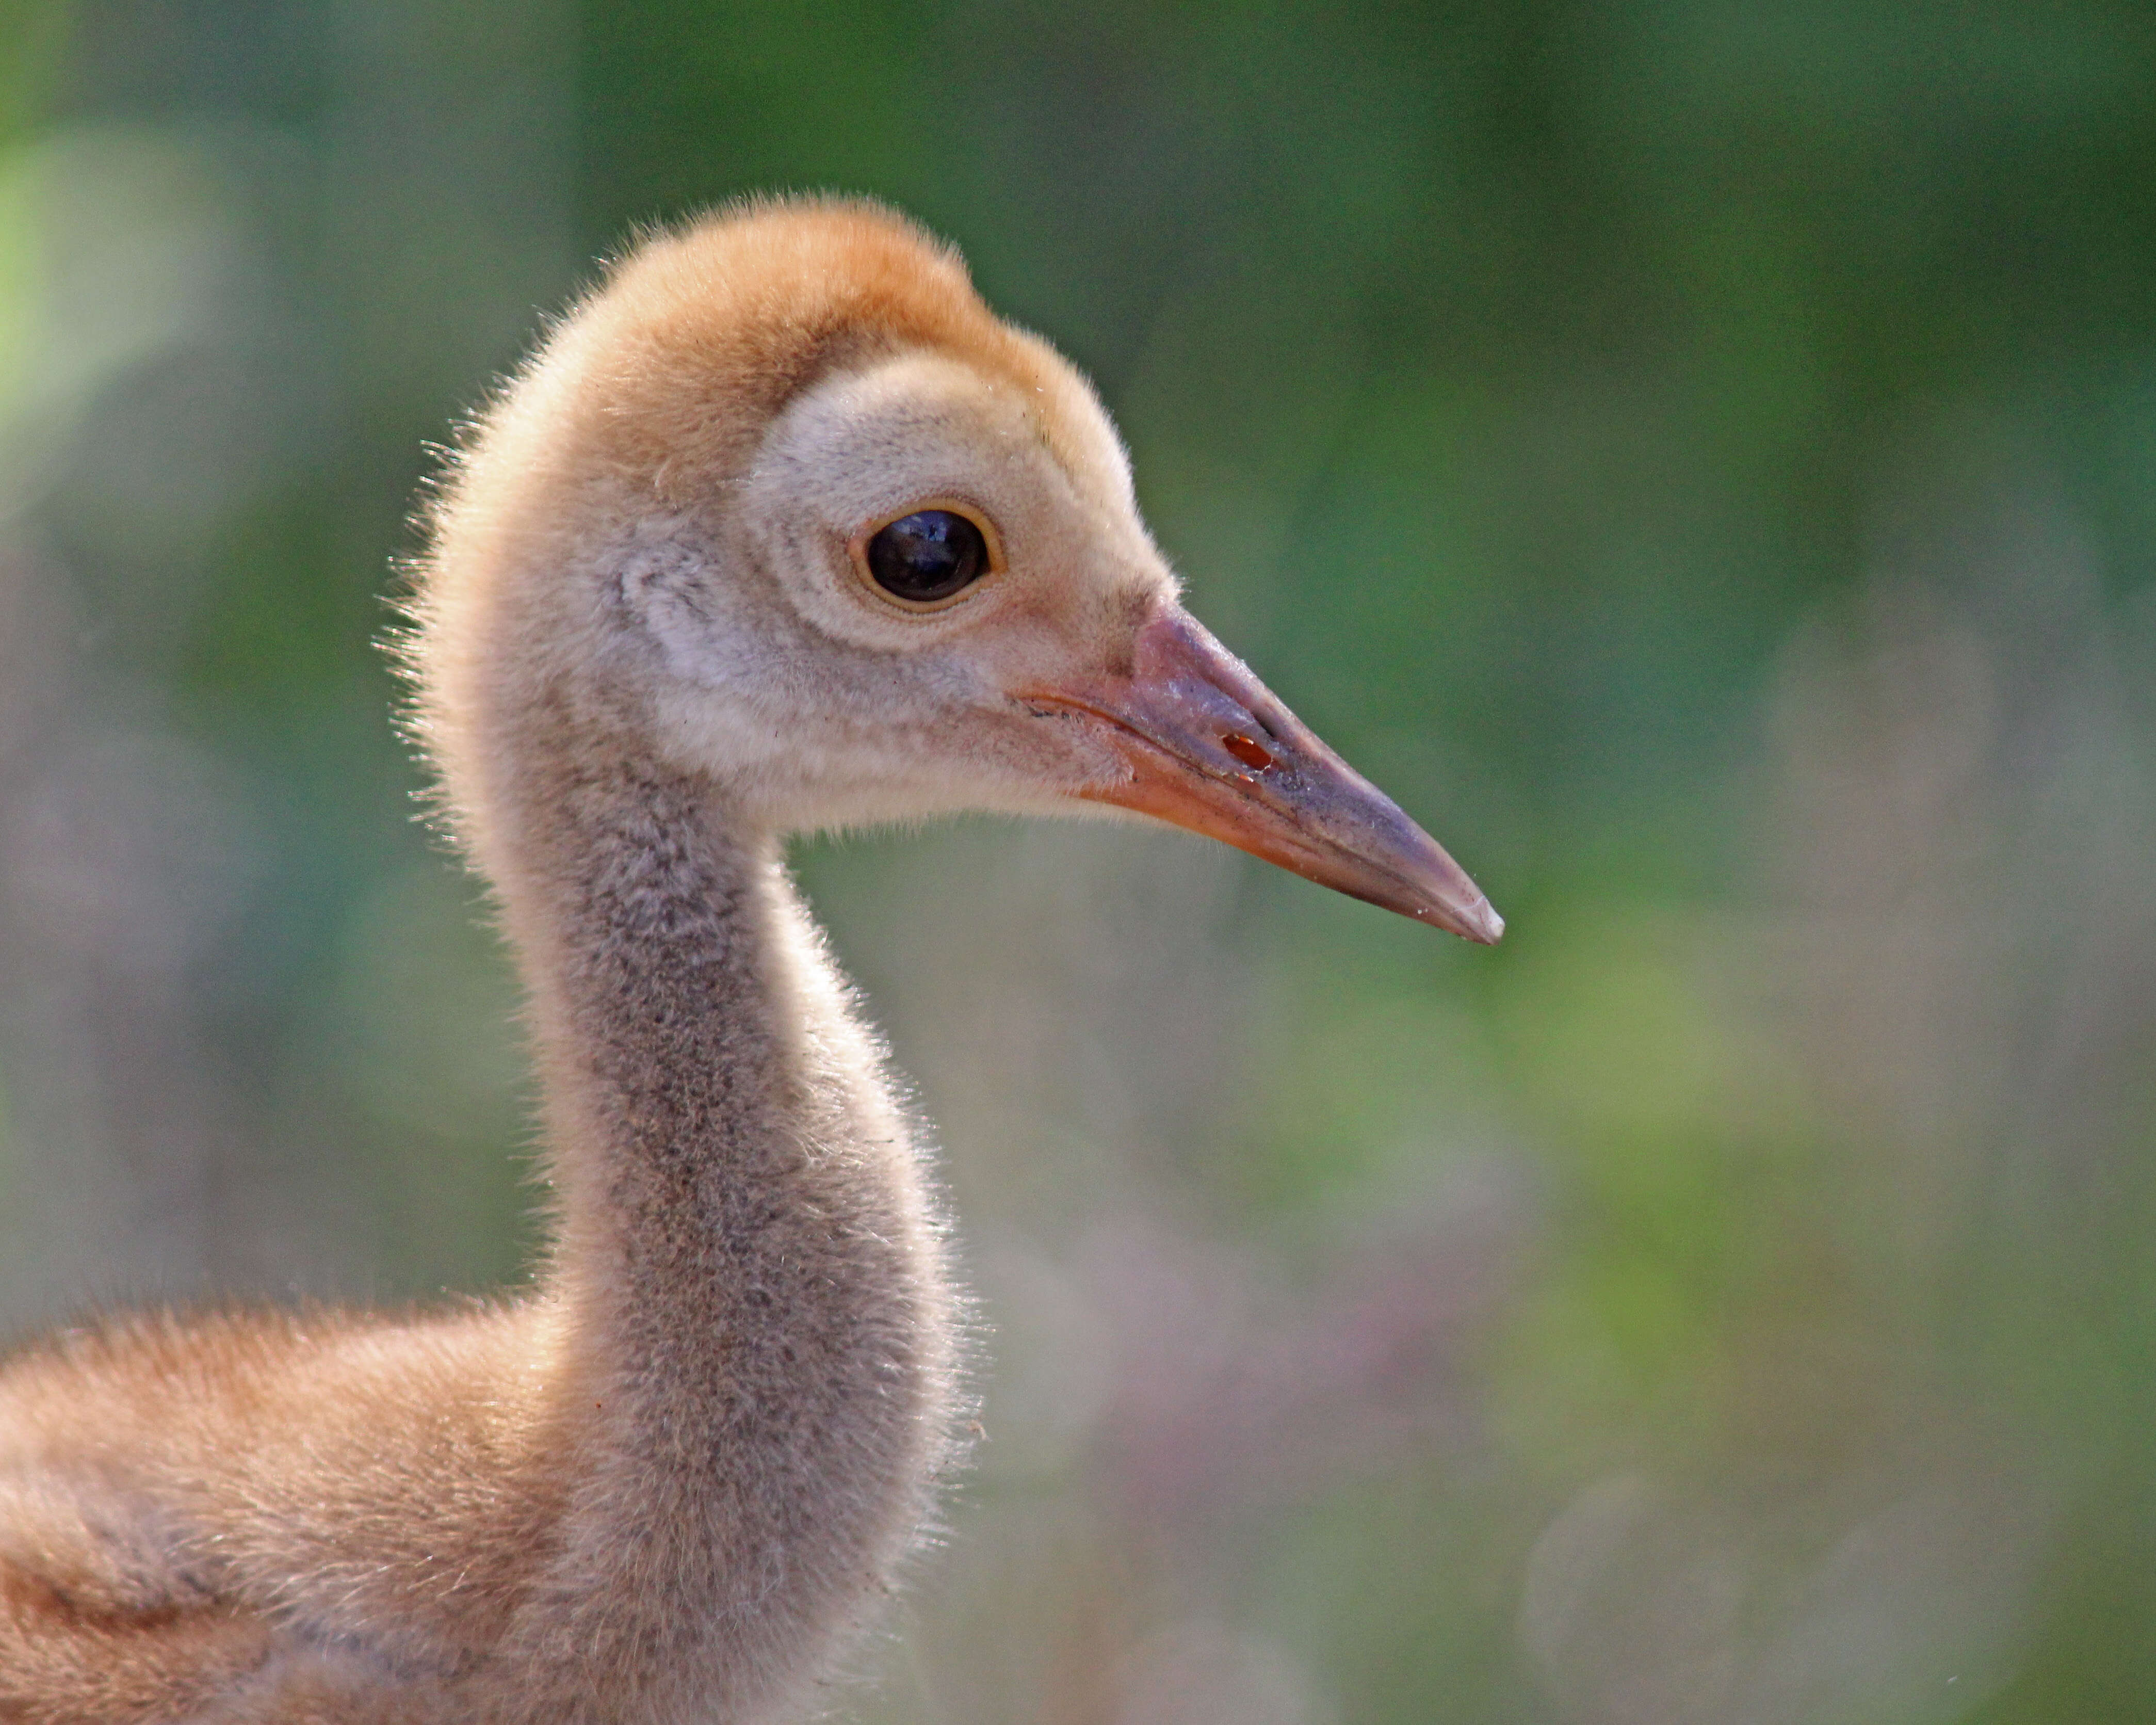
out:
M1326 748L1190 612L1138 630L1128 675L1013 690L1106 727L1128 768L1080 791L1222 839L1304 880L1496 942L1505 919L1423 828Z

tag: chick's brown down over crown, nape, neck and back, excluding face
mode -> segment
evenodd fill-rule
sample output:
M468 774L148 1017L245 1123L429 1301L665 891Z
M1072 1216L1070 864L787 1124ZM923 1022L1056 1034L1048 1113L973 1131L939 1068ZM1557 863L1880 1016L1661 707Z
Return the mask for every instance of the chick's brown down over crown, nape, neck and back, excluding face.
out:
M524 953L550 1264L487 1311L147 1315L19 1358L0 1721L770 1719L873 1615L953 1453L921 1160L776 832L561 709L580 643L515 554L528 483L709 485L817 369L923 332L1000 341L946 252L761 211L625 263L476 429L407 651Z

